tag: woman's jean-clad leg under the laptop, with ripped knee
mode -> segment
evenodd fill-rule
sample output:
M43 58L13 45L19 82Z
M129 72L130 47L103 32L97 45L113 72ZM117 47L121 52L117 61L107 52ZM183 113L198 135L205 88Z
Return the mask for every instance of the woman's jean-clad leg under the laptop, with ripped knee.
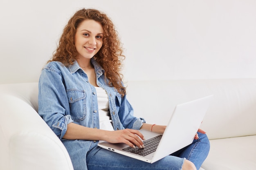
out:
M99 147L95 147L87 155L88 170L181 170L183 163L190 167L183 170L194 170L191 168L193 163L191 165L189 161L174 156L147 163Z

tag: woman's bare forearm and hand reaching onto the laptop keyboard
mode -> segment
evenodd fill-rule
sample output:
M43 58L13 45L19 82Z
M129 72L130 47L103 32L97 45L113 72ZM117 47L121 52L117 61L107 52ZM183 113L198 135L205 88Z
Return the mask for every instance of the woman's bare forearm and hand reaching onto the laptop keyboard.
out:
M125 143L130 147L138 146L144 148L143 142L139 139L144 139L144 136L138 130L101 130L97 128L88 128L75 123L67 125L67 131L63 139L83 139L83 140L104 140L110 143Z

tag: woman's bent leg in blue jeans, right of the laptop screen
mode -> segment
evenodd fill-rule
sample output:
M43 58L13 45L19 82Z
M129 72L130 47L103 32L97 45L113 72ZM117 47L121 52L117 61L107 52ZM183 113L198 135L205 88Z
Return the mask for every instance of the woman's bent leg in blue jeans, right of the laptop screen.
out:
M193 162L197 170L201 167L210 150L210 142L207 135L198 132L198 137L199 139L194 140L189 146L171 154Z

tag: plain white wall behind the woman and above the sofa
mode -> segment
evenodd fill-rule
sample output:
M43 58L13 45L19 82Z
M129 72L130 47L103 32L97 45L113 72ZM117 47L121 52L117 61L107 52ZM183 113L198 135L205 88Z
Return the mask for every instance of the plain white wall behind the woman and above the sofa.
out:
M256 77L255 0L1 0L0 83L37 82L82 7L117 26L127 81Z

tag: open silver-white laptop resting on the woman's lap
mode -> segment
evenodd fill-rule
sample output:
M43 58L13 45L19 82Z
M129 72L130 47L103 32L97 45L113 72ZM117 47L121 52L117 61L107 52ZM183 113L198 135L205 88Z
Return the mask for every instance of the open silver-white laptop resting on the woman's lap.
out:
M141 139L145 148L141 149L137 146L131 148L123 143L111 144L107 141L99 143L98 146L141 161L154 163L193 142L212 98L213 95L210 95L175 106L163 134L145 129L139 130L146 139L145 141ZM151 140L153 144L150 144Z

